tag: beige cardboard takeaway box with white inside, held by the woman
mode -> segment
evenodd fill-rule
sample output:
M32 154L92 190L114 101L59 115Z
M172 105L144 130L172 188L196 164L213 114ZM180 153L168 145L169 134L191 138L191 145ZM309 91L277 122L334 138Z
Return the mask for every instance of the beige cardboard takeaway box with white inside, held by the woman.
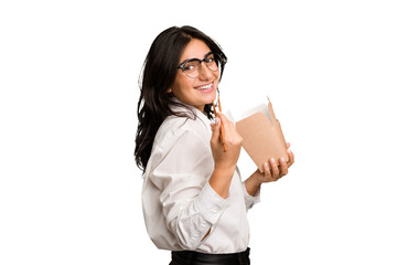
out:
M267 104L248 110L236 123L236 129L243 137L244 149L260 172L264 172L264 163L270 158L275 158L277 165L281 157L289 160L286 139L269 98Z

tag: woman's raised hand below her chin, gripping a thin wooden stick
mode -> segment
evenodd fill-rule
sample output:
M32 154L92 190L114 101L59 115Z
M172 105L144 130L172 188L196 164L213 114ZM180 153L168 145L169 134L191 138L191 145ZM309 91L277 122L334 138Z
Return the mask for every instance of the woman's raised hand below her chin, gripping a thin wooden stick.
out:
M226 151L221 141L221 125L223 125ZM215 162L215 169L235 170L242 150L243 138L237 132L236 127L222 113L216 117L216 123L212 127L211 149Z

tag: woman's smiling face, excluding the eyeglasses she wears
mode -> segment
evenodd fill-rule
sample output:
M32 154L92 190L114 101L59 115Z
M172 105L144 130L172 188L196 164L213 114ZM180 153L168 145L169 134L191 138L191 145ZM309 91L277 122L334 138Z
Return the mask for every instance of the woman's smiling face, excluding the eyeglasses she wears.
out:
M183 51L180 64L190 59L203 60L211 52L210 47L201 40L192 39ZM181 102L194 106L202 113L204 106L212 103L216 97L219 70L211 71L203 62L197 77L189 77L181 68L178 70L175 81L169 92Z

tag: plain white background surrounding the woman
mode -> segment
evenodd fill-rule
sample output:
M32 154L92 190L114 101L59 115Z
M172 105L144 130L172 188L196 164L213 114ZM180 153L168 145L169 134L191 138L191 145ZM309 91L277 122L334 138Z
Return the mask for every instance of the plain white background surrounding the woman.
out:
M140 2L139 4L137 2ZM228 56L224 109L268 95L296 153L248 214L253 264L397 264L394 1L1 1L0 264L168 264L133 161L153 39ZM247 177L255 167L242 153Z

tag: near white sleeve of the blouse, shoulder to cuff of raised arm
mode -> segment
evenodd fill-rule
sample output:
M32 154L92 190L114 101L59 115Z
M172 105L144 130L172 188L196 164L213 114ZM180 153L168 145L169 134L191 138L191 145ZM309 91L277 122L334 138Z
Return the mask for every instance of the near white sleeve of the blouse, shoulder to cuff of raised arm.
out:
M219 221L228 200L210 186L214 161L210 142L192 130L172 141L150 176L162 191L160 203L170 232L184 250L196 250Z

